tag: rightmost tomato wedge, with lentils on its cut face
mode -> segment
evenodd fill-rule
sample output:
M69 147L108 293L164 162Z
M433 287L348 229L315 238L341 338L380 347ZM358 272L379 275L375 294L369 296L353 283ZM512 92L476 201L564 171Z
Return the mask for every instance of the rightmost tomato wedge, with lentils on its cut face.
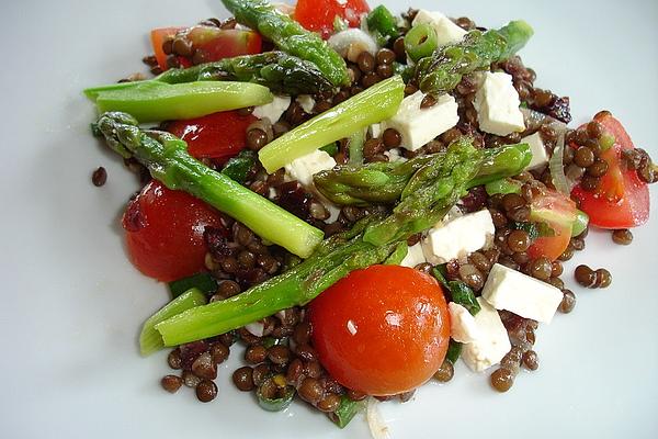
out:
M580 184L571 196L580 202L580 210L590 217L590 224L601 228L629 228L643 225L649 218L649 189L637 172L622 165L622 151L635 146L620 121L610 113L599 113L594 121L603 125L608 135L614 136L614 145L601 154L608 162L608 172L601 178L595 192L588 192Z

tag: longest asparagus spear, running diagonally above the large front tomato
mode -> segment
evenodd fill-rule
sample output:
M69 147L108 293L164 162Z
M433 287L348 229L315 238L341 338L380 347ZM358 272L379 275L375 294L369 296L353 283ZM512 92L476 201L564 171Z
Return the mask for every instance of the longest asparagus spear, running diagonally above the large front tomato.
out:
M452 146L444 161L413 182L423 196L407 195L401 211L370 216L349 232L326 239L304 262L246 292L181 313L156 329L167 346L212 337L295 305L304 305L351 271L386 261L419 227L439 221L476 173L481 153L466 143ZM478 159L480 157L480 159ZM465 160L465 161L462 161ZM427 181L423 179L427 178ZM431 188L438 189L432 190ZM443 198L441 198L443 196ZM426 204L428 203L428 204ZM431 224L433 225L433 223ZM374 244L377 238L377 243Z

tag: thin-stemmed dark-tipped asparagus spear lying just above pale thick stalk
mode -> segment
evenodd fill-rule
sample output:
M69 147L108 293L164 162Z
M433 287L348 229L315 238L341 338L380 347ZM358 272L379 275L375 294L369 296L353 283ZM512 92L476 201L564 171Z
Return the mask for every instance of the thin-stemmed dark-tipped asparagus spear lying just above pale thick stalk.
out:
M201 64L186 69L169 69L148 81L93 87L84 90L84 94L95 100L103 91L134 89L152 81L171 85L194 81L253 82L284 94L316 94L333 88L315 64L283 52L265 52Z

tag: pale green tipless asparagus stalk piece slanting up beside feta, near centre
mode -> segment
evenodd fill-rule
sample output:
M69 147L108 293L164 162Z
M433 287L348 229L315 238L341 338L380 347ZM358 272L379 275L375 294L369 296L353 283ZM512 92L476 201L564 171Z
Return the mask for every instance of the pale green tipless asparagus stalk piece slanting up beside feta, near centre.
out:
M331 142L393 117L404 97L401 78L386 79L265 145L258 153L260 161L272 173Z

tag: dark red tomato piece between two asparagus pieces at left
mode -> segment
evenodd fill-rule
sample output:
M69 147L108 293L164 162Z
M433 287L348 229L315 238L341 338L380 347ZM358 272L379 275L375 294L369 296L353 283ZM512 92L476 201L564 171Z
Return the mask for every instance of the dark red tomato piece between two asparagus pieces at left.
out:
M218 161L237 156L247 145L247 128L258 119L237 111L224 111L207 116L174 121L167 131L188 143L188 151L195 158Z

